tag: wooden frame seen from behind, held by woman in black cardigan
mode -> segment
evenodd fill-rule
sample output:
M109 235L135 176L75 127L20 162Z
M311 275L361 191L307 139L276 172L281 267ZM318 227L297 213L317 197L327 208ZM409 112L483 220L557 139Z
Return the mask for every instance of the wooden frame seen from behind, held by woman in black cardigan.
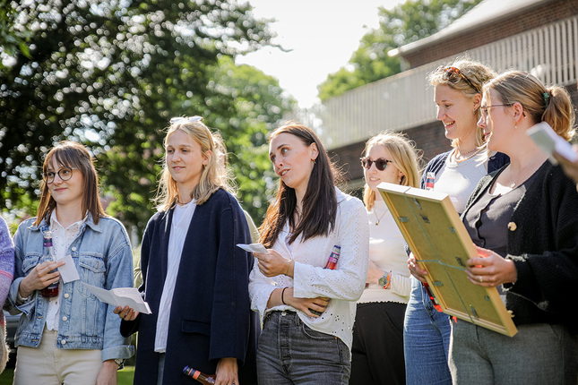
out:
M427 283L442 310L460 320L512 337L517 329L496 287L468 280L465 262L478 252L447 194L400 184L377 186L401 234L427 270Z

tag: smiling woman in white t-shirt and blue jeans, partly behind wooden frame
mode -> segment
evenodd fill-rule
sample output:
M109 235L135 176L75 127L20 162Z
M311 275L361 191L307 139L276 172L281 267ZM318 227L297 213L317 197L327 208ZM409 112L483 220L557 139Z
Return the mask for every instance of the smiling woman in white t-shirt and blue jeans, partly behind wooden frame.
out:
M462 213L479 179L507 162L503 154L487 154L480 116L481 90L495 73L483 64L460 60L441 66L429 75L434 86L437 120L444 124L445 137L453 149L433 158L421 179L422 188L447 193L458 213ZM412 275L410 302L405 315L403 343L409 384L449 384L447 364L450 321L437 312L427 294L425 270L413 255L408 261Z

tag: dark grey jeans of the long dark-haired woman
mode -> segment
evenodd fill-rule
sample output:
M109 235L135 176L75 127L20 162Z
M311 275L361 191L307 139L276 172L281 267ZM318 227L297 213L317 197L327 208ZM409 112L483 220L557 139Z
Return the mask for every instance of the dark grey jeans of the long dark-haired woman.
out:
M296 312L271 312L257 346L259 385L347 385L350 354L341 339L306 326Z

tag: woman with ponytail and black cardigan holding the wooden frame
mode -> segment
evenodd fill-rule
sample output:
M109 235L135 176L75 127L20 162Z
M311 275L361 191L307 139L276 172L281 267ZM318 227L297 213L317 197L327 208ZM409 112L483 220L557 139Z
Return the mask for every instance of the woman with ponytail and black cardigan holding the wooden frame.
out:
M481 108L487 147L511 162L482 178L463 212L479 252L466 273L498 288L518 332L453 325L453 383L575 384L578 194L526 134L546 122L570 140L574 107L565 89L511 72L484 86Z

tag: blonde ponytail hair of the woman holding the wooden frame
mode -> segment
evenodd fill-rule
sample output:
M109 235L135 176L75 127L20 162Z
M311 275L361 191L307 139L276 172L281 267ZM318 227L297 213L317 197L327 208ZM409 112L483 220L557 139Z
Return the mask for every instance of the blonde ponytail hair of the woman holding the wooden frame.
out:
M520 103L525 116L530 117L534 124L550 124L566 141L574 136L574 107L564 88L556 85L545 87L531 73L510 71L484 86L486 96L489 90L495 90L505 105Z

